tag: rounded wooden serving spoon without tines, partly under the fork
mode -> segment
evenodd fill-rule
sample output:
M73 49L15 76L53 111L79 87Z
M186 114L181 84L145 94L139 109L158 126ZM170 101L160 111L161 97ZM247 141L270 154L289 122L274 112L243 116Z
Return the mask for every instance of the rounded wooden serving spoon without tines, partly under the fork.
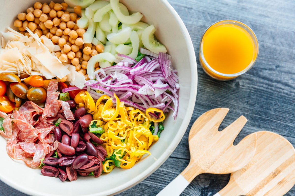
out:
M233 172L230 182L214 196L282 196L294 186L295 149L292 144L276 133L256 133L254 157L245 167Z

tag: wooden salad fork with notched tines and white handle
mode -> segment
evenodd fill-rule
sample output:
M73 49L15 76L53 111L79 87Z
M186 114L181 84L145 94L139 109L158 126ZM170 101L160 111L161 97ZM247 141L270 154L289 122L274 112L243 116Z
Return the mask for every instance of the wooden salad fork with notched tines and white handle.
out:
M244 167L253 158L257 141L255 134L244 138L238 145L233 145L247 122L244 116L218 131L228 111L228 108L209 110L194 122L189 132L191 161L158 196L180 195L197 175L228 174Z

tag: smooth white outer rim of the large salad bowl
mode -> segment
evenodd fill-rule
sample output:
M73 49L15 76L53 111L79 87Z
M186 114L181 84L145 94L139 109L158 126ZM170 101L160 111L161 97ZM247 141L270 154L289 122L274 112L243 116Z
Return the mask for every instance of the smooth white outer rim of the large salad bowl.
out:
M140 175L137 175L135 178L133 178L130 181L125 182L122 185L119 185L115 188L106 190L104 192L97 192L94 194L88 194L84 196L106 196L106 195L116 195L120 192L123 192L124 190L127 190L135 185L137 185L139 182L144 180L145 178L149 177L155 170L157 170L173 153L175 148L178 146L180 140L182 139L184 133L186 132L186 129L189 126L189 122L191 120L191 117L194 112L194 105L196 102L196 95L197 95L197 85L198 85L198 74L197 74L197 62L196 62L196 54L194 51L194 46L191 40L191 37L189 35L188 30L186 29L186 26L184 25L183 21L181 20L180 16L177 14L175 9L169 4L167 0L160 0L164 6L168 8L168 10L173 14L174 18L176 19L176 22L181 28L181 31L183 35L185 36L186 40L186 46L189 48L189 60L191 63L191 94L189 97L189 104L188 108L186 110L186 113L184 115L183 121L180 125L180 131L175 135L174 139L169 144L167 150L164 151L164 153L160 156L158 160L156 160L152 165L150 165L147 170L143 171ZM6 179L4 176L0 174L0 180L4 182L5 184L13 187L16 190L19 190L25 194L28 195L36 195L36 196L54 196L55 194L45 194L43 192L36 192L34 190L30 190L26 187L22 187L13 181Z

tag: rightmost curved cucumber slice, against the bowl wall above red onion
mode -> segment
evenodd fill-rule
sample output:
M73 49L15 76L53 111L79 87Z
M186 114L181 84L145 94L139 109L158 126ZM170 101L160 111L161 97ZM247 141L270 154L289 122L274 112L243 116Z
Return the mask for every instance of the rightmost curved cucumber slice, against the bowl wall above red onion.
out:
M141 40L143 45L148 48L148 50L158 54L159 52L166 53L166 47L155 40L154 33L156 29L154 25L147 27L145 30L142 31Z

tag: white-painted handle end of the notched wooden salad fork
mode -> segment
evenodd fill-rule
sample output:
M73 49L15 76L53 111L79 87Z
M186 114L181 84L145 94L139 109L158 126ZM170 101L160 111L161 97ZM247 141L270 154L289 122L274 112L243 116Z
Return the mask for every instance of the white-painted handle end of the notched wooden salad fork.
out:
M156 196L179 196L188 185L189 182L181 174L179 174Z

